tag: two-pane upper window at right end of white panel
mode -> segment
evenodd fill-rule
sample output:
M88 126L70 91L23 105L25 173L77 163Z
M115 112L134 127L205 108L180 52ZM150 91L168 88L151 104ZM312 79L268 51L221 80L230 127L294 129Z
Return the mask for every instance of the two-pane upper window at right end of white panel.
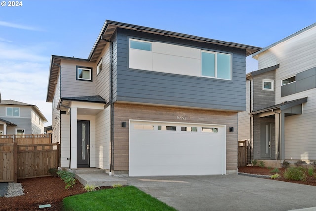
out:
M230 54L202 51L202 76L231 80L231 60Z

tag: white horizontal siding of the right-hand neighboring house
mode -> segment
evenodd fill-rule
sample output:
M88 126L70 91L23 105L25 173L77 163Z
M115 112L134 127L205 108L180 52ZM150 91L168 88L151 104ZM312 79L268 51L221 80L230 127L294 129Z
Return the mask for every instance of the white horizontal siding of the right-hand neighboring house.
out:
M285 159L316 160L316 89L281 97L281 80L316 67L316 27L259 54L259 69L280 64L276 70L276 104L308 97L302 114L285 117Z

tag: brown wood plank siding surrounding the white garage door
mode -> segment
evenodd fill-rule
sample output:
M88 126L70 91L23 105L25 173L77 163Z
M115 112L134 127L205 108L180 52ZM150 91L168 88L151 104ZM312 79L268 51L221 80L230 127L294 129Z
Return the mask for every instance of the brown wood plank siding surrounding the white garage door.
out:
M226 169L237 169L236 112L115 103L114 115L114 171L128 171L129 120L131 119L226 125ZM186 120L179 121L177 116L186 116ZM127 127L123 128L121 122L127 122ZM229 127L234 127L234 132L229 132Z

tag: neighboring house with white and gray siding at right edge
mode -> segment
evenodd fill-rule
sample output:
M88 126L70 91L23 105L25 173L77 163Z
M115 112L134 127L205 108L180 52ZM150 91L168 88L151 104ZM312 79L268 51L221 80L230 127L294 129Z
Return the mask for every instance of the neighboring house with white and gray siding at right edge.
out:
M259 70L246 76L247 111L238 114L252 159L316 160L315 38L316 23L253 54Z

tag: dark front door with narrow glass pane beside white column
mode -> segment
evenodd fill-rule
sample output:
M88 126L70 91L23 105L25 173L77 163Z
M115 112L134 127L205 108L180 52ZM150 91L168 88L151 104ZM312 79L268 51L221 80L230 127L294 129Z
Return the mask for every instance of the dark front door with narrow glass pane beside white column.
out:
M90 167L90 121L77 121L77 167Z

